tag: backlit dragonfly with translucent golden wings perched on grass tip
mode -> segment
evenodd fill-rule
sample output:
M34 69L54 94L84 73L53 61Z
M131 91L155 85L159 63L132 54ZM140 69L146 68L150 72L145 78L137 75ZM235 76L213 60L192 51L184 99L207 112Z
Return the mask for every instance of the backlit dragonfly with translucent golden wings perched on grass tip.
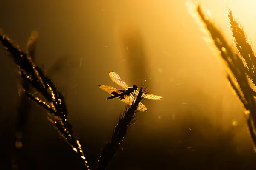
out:
M117 85L121 86L124 89L117 89L108 85L99 85L99 88L112 95L108 97L107 100L117 98L118 100L125 102L128 105L132 105L136 100L135 96L139 94L138 86L133 85L132 87L128 87L128 85L119 77L119 75L115 71L109 71L109 77L113 82L115 82ZM155 94L148 94L145 92L143 92L142 97L151 100L163 100L163 97L161 96L157 96ZM148 111L145 105L143 105L141 102L139 103L137 109L143 112Z

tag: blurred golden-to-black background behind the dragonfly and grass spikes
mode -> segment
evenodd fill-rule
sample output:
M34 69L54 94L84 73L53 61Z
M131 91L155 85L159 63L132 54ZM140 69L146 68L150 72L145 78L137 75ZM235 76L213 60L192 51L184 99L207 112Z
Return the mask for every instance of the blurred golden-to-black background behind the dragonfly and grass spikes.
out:
M198 1L192 1L198 3ZM67 91L69 120L95 165L125 103L107 101L98 85L146 85L162 101L145 100L109 170L227 170L256 168L244 110L228 84L225 65L185 0L9 0L0 6L0 28L25 50L38 32L35 63ZM254 0L201 0L230 44L227 7L256 42ZM18 100L17 67L0 49L0 167L10 169ZM75 67L72 63L76 63ZM32 104L23 133L23 169L81 167L72 148ZM92 167L94 169L94 167Z

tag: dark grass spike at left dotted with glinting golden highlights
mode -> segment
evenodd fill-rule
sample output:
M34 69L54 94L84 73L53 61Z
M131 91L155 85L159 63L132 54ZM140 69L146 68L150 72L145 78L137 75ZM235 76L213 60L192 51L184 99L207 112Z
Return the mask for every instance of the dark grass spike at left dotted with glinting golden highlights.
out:
M55 88L52 80L46 77L43 71L32 62L29 52L24 53L18 46L14 46L9 37L4 35L3 32L0 32L0 42L20 68L21 77L38 90L38 93L44 96L47 102L51 104L50 108L47 108L47 111L50 111L53 117L51 122L54 123L60 135L66 139L79 155L83 161L84 170L89 170L88 161L80 142L73 136L72 126L67 120L68 112L62 93ZM47 107L41 99L33 97L27 91L26 94L42 107Z

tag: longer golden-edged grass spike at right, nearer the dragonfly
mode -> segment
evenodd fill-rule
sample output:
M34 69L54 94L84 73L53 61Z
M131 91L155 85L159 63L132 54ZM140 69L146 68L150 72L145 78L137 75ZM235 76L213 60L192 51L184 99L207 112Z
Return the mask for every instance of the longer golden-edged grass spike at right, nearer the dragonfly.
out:
M242 59L239 55L232 50L232 48L227 44L227 41L224 39L221 31L219 31L209 17L205 17L204 13L201 10L201 6L197 6L197 12L204 25L206 26L209 34L212 37L212 40L215 43L215 46L221 52L221 57L227 62L228 68L232 72L234 79L237 81L237 86L235 83L230 81L231 85L236 88L234 90L237 92L239 99L241 100L245 110L246 116L249 116L247 119L247 125L251 134L251 139L253 140L254 147L256 146L256 103L254 100L254 91L250 86L250 79L247 77L247 68L245 67ZM241 89L241 93L238 89ZM244 98L244 99L243 99Z

